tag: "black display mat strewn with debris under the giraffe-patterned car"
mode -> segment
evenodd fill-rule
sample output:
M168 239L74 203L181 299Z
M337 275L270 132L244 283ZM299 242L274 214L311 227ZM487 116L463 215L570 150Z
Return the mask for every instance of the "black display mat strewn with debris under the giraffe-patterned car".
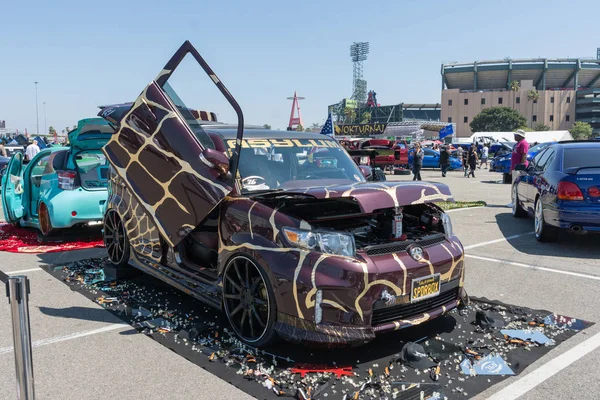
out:
M280 342L255 349L239 342L228 330L226 317L204 303L135 269L119 272L103 268L103 260L90 259L44 269L72 290L101 304L107 311L152 337L190 362L206 369L259 399L465 399L483 392L508 375L469 376L460 363L465 347L498 355L515 375L520 374L552 348L577 334L566 326L542 324L550 311L531 310L487 299L421 326L378 337L361 347L325 348ZM43 307L40 307L44 312ZM498 329L482 331L474 324L477 310L502 315L504 329L532 329L553 340L551 345L509 343ZM74 316L75 317L75 316ZM577 320L578 329L590 322ZM133 333L133 332L132 332ZM421 344L440 365L437 381L430 371L417 371L399 359L403 345ZM475 360L470 356L473 362ZM301 377L294 367L345 368L352 376L335 371L312 372Z

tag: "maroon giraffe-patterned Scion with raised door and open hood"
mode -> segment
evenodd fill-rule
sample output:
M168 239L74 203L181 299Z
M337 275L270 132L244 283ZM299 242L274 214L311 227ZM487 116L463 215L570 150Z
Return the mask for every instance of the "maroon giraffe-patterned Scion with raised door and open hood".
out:
M169 79L192 56L237 125L185 106ZM226 314L239 338L362 344L467 301L464 249L436 202L447 186L368 182L333 138L245 129L238 103L189 43L116 128L104 241L133 265Z

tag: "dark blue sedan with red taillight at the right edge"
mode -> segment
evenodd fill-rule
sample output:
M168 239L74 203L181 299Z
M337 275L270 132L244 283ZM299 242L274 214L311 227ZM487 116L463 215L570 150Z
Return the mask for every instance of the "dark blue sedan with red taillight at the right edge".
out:
M559 142L518 165L513 216L532 215L539 241L556 239L559 229L600 232L599 155L597 141Z

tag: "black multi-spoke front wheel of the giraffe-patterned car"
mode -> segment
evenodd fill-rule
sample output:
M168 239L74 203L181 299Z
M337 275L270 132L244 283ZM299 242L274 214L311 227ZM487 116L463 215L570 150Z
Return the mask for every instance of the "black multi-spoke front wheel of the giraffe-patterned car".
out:
M233 257L223 271L223 309L238 338L262 347L277 339L277 305L267 274L245 255Z

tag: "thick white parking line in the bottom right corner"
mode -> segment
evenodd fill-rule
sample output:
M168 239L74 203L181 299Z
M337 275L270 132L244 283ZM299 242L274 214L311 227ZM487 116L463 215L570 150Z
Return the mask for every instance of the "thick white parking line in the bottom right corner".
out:
M517 399L598 347L600 347L600 333L596 333L585 342L579 343L541 367L534 369L523 378L488 397L488 400Z

